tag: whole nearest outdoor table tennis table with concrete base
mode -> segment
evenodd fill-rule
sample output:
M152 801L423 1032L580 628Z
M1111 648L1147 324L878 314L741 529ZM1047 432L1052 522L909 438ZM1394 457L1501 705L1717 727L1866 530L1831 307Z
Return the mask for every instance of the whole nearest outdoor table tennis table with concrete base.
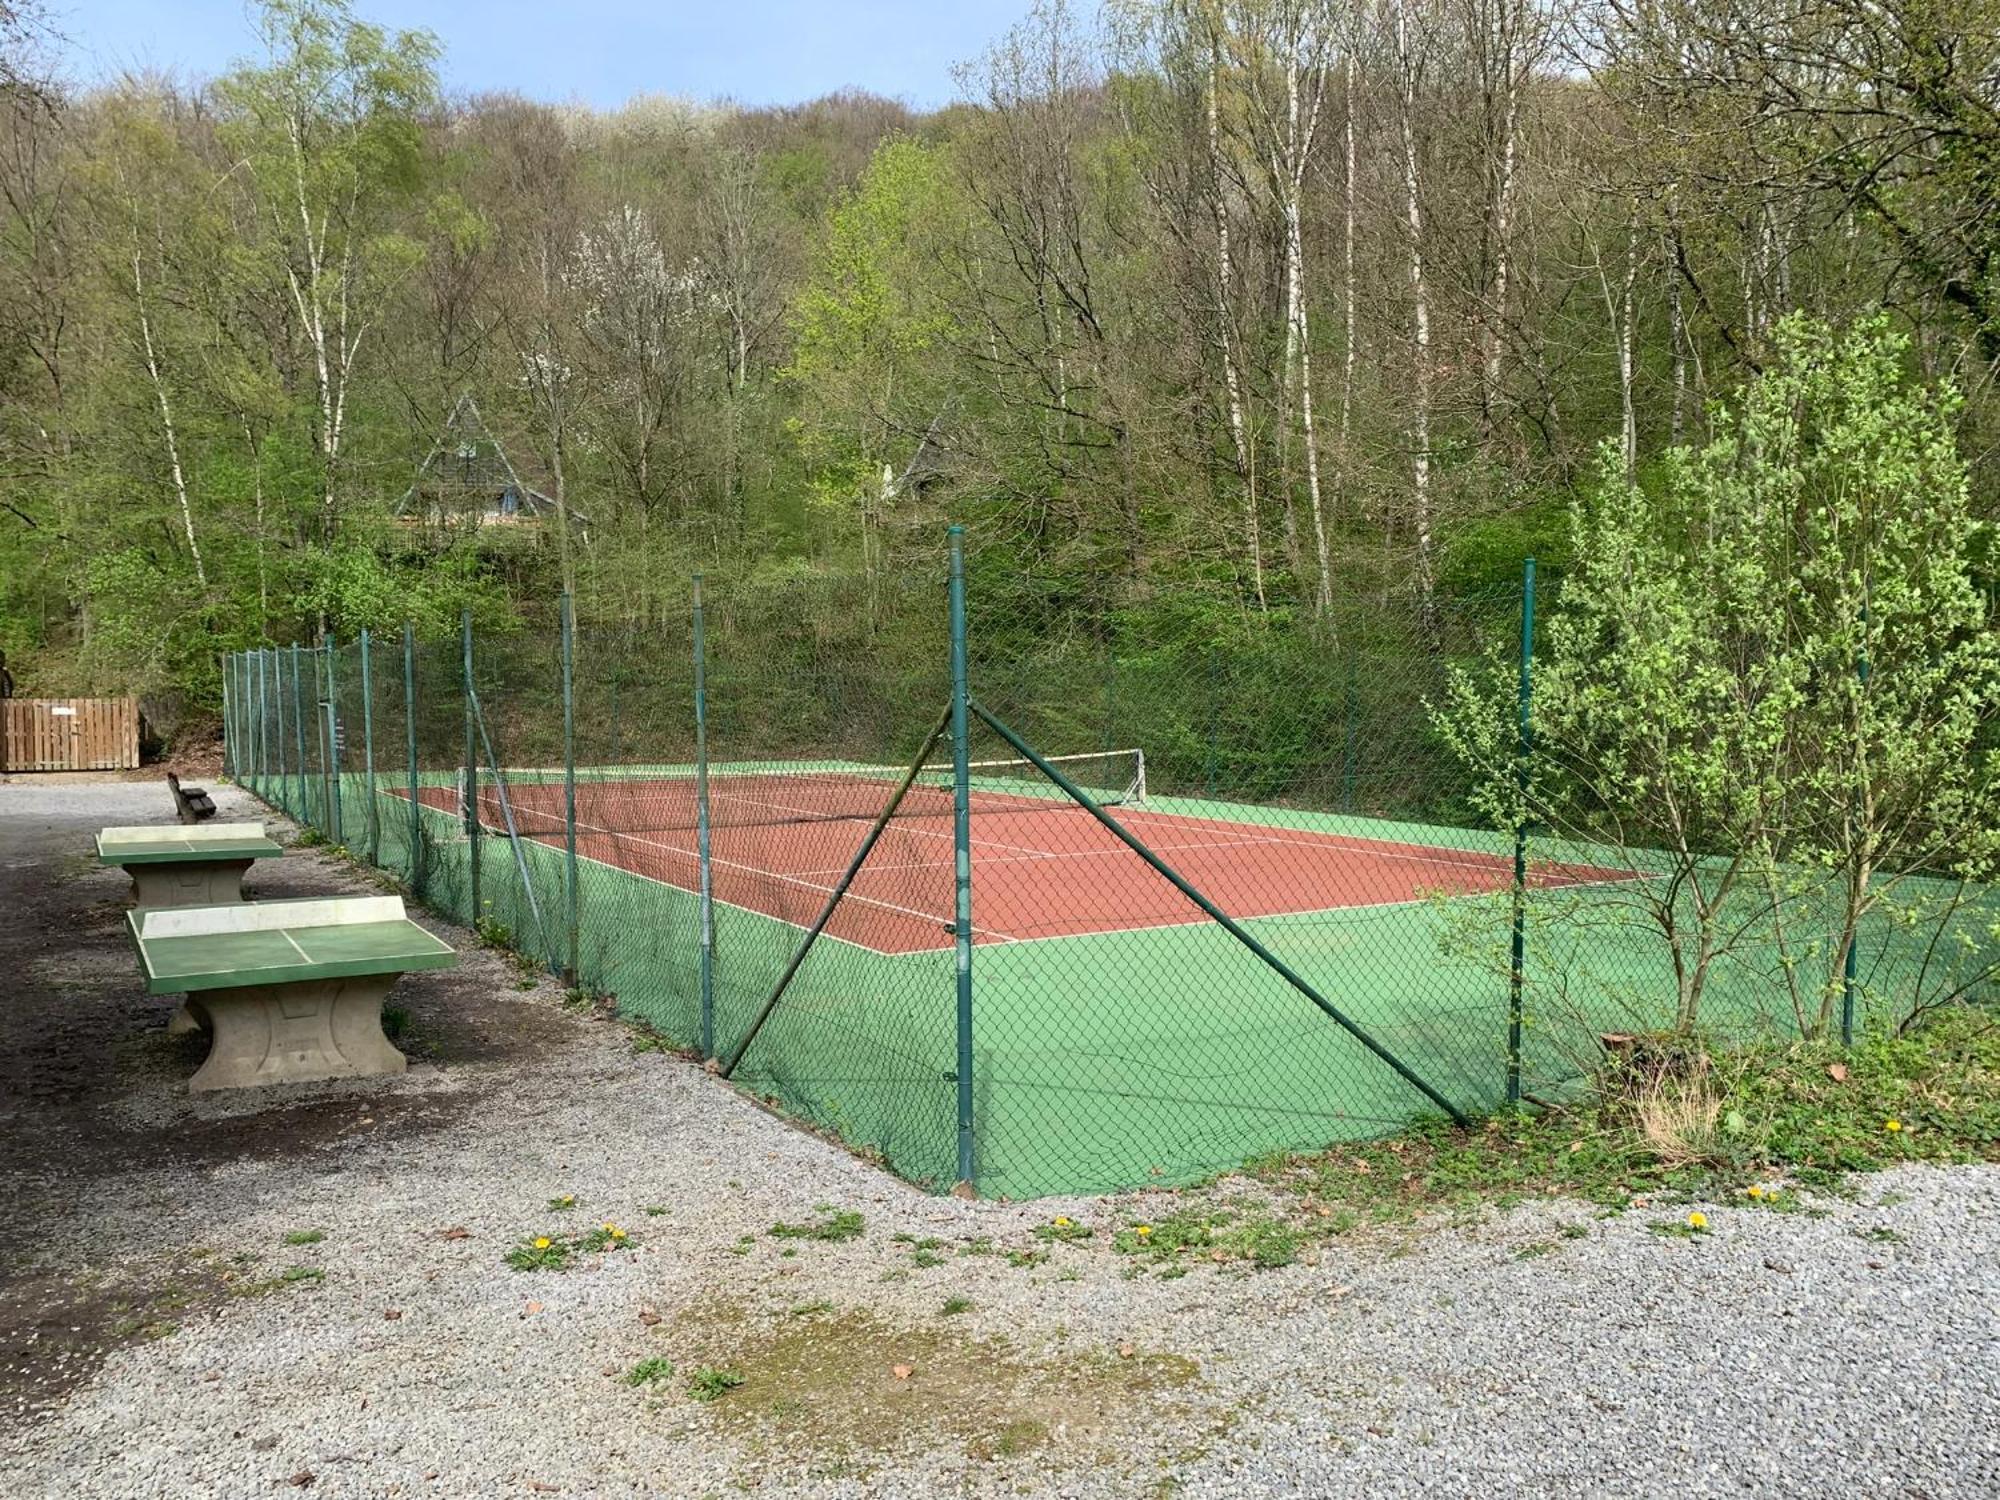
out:
M190 1092L402 1072L382 1000L412 970L458 962L400 896L324 896L126 912L148 994L186 994L208 1028Z

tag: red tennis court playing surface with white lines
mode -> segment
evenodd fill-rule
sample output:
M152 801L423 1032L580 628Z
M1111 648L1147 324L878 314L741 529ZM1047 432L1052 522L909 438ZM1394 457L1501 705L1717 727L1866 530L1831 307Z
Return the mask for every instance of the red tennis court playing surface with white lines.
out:
M456 790L428 786L426 806L456 810ZM522 836L560 848L562 788L508 788ZM662 818L648 798L686 804L686 782L622 782L576 788L576 852L680 890L698 890L692 828L616 832ZM888 794L882 792L882 800ZM1208 918L1082 808L1024 806L1022 798L974 792L974 942L1032 942L1104 932L1192 926ZM500 800L480 794L488 830L504 832ZM1296 828L1116 808L1120 824L1234 918L1306 916L1400 906L1432 894L1506 890L1512 860L1500 854L1350 838ZM718 902L806 928L820 914L860 846L870 818L728 822L710 834ZM1590 866L1542 866L1536 886L1622 878ZM898 812L834 910L828 936L882 954L952 946L952 818Z

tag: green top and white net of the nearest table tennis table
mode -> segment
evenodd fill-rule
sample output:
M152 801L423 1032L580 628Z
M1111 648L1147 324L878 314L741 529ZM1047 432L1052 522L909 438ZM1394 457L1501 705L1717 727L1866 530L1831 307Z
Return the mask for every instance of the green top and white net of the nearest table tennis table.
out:
M324 896L126 912L148 994L450 968L458 954L398 896Z

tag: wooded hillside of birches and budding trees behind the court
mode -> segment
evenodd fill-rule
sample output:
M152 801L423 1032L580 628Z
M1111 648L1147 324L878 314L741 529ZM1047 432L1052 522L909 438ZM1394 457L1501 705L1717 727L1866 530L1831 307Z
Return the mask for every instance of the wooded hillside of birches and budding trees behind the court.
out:
M930 112L454 96L344 0L242 40L84 88L0 0L22 694L212 724L222 652L694 572L864 648L948 522L1036 636L1440 642L1794 310L1884 316L2000 504L1992 0L1040 0Z

